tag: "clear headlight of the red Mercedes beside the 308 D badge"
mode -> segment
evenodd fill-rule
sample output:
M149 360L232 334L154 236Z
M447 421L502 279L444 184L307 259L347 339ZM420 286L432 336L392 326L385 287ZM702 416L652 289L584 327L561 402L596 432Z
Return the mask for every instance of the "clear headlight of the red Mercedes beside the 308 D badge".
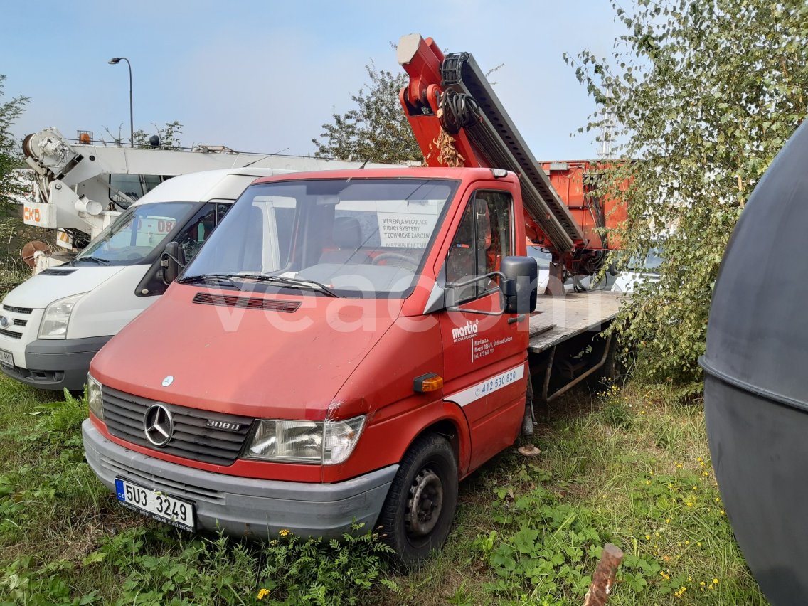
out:
M337 465L351 456L364 415L345 421L262 419L245 452L248 459Z

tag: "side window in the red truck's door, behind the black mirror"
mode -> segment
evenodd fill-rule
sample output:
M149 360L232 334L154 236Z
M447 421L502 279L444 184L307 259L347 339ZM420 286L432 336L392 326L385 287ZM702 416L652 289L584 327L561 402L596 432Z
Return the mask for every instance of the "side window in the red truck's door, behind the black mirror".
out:
M503 191L478 191L465 208L446 260L446 280L462 282L499 271L513 250L511 196ZM460 301L479 297L499 280L481 280L463 288Z

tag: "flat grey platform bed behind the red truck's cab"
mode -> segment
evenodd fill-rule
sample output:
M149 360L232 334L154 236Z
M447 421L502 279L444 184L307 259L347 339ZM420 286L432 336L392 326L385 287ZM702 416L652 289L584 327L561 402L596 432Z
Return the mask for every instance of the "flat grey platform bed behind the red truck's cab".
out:
M586 330L604 330L617 316L623 293L596 290L567 292L566 297L540 295L530 316L528 350L545 351Z

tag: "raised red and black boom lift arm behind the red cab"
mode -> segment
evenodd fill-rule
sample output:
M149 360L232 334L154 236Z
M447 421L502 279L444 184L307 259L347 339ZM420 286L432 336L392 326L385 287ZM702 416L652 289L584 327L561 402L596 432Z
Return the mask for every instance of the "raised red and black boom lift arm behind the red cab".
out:
M482 166L520 175L528 238L573 273L592 273L604 242L583 234L469 53L444 56L431 38L403 36L398 63L410 76L399 100L427 166ZM453 154L447 154L446 141Z

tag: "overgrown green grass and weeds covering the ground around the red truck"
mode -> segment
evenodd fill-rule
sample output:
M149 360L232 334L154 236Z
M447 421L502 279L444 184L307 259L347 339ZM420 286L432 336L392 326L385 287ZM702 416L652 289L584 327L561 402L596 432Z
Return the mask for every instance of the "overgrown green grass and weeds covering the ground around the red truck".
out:
M626 557L609 604L765 604L701 406L664 388L582 389L538 410L541 455L509 448L462 482L447 545L406 576L369 533L250 545L124 510L83 460L85 406L0 378L0 603L583 604L612 542Z

